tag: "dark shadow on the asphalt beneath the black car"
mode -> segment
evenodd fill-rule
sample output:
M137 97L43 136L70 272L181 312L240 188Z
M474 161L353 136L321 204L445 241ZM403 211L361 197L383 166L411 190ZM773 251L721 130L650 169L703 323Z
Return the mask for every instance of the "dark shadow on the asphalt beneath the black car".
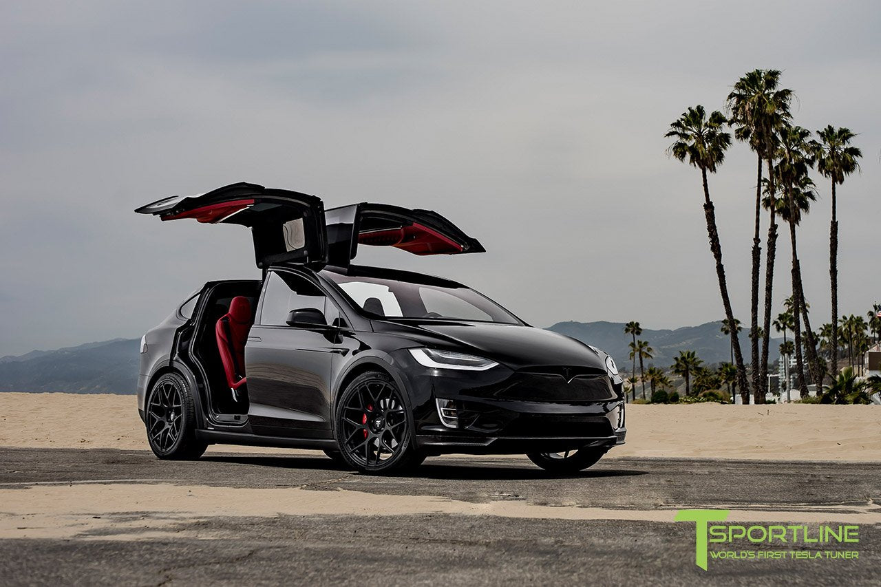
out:
M249 464L261 467L278 467L282 469L307 469L313 471L339 471L351 472L365 479L445 479L462 481L511 481L530 479L600 479L605 477L633 477L647 475L648 471L625 468L588 469L577 473L552 473L539 469L529 464L508 464L505 462L492 463L480 461L473 464L459 464L455 462L433 463L427 460L418 468L408 472L396 472L389 475L367 475L354 472L341 466L326 457L300 457L297 455L211 455L204 456L202 461L227 464ZM450 459L452 460L452 459Z

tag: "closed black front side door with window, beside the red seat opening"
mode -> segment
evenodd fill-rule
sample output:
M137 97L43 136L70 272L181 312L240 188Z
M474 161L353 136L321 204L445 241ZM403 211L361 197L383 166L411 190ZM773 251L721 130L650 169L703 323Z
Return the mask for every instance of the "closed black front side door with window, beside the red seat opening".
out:
M286 323L292 309L315 308L328 323L338 318L333 301L309 279L269 271L255 324L245 346L248 421L255 434L330 438L329 380L339 333Z

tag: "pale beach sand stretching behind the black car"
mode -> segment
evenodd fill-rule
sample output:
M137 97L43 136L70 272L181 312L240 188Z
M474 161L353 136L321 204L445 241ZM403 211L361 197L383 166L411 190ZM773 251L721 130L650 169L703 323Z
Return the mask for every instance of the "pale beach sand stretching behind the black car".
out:
M628 405L626 424L607 458L881 461L878 405ZM0 446L149 450L134 396L67 393L0 393Z

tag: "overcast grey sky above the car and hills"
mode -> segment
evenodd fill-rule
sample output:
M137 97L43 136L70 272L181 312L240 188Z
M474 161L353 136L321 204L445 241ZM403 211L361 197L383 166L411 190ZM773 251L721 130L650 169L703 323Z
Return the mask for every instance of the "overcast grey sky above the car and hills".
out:
M3 3L0 356L138 337L209 279L259 277L246 229L132 212L240 181L441 212L487 252L357 261L456 279L537 326L719 320L700 173L663 134L756 68L783 71L796 123L859 133L839 281L840 313L864 315L881 300L879 30L877 2ZM819 325L815 179L799 254ZM748 323L745 145L710 189ZM784 232L775 308L789 255Z

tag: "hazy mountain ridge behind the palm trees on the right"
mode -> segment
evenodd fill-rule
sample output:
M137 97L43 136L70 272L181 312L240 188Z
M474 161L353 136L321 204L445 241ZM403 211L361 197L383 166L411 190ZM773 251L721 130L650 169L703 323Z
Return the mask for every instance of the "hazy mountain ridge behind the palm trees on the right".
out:
M637 338L648 340L649 346L655 350L653 353L655 358L644 361L645 366L654 364L658 367L670 367L673 364L673 357L679 351L694 351L705 363L731 360L730 338L722 334L721 327L721 322L708 322L700 324L700 326L677 328L674 331L642 329L642 334ZM633 342L633 337L624 333L623 322L560 322L548 330L577 338L581 342L603 349L606 353L611 354L615 362L618 363L618 368L622 370L627 370L627 365L633 365L629 346ZM768 348L769 361L777 360L781 342L783 342L782 338L771 339L771 345ZM748 353L749 338L746 337L745 332L740 333L740 347L744 353ZM744 360L749 361L746 354L744 354ZM637 368L639 368L639 361L637 361Z

